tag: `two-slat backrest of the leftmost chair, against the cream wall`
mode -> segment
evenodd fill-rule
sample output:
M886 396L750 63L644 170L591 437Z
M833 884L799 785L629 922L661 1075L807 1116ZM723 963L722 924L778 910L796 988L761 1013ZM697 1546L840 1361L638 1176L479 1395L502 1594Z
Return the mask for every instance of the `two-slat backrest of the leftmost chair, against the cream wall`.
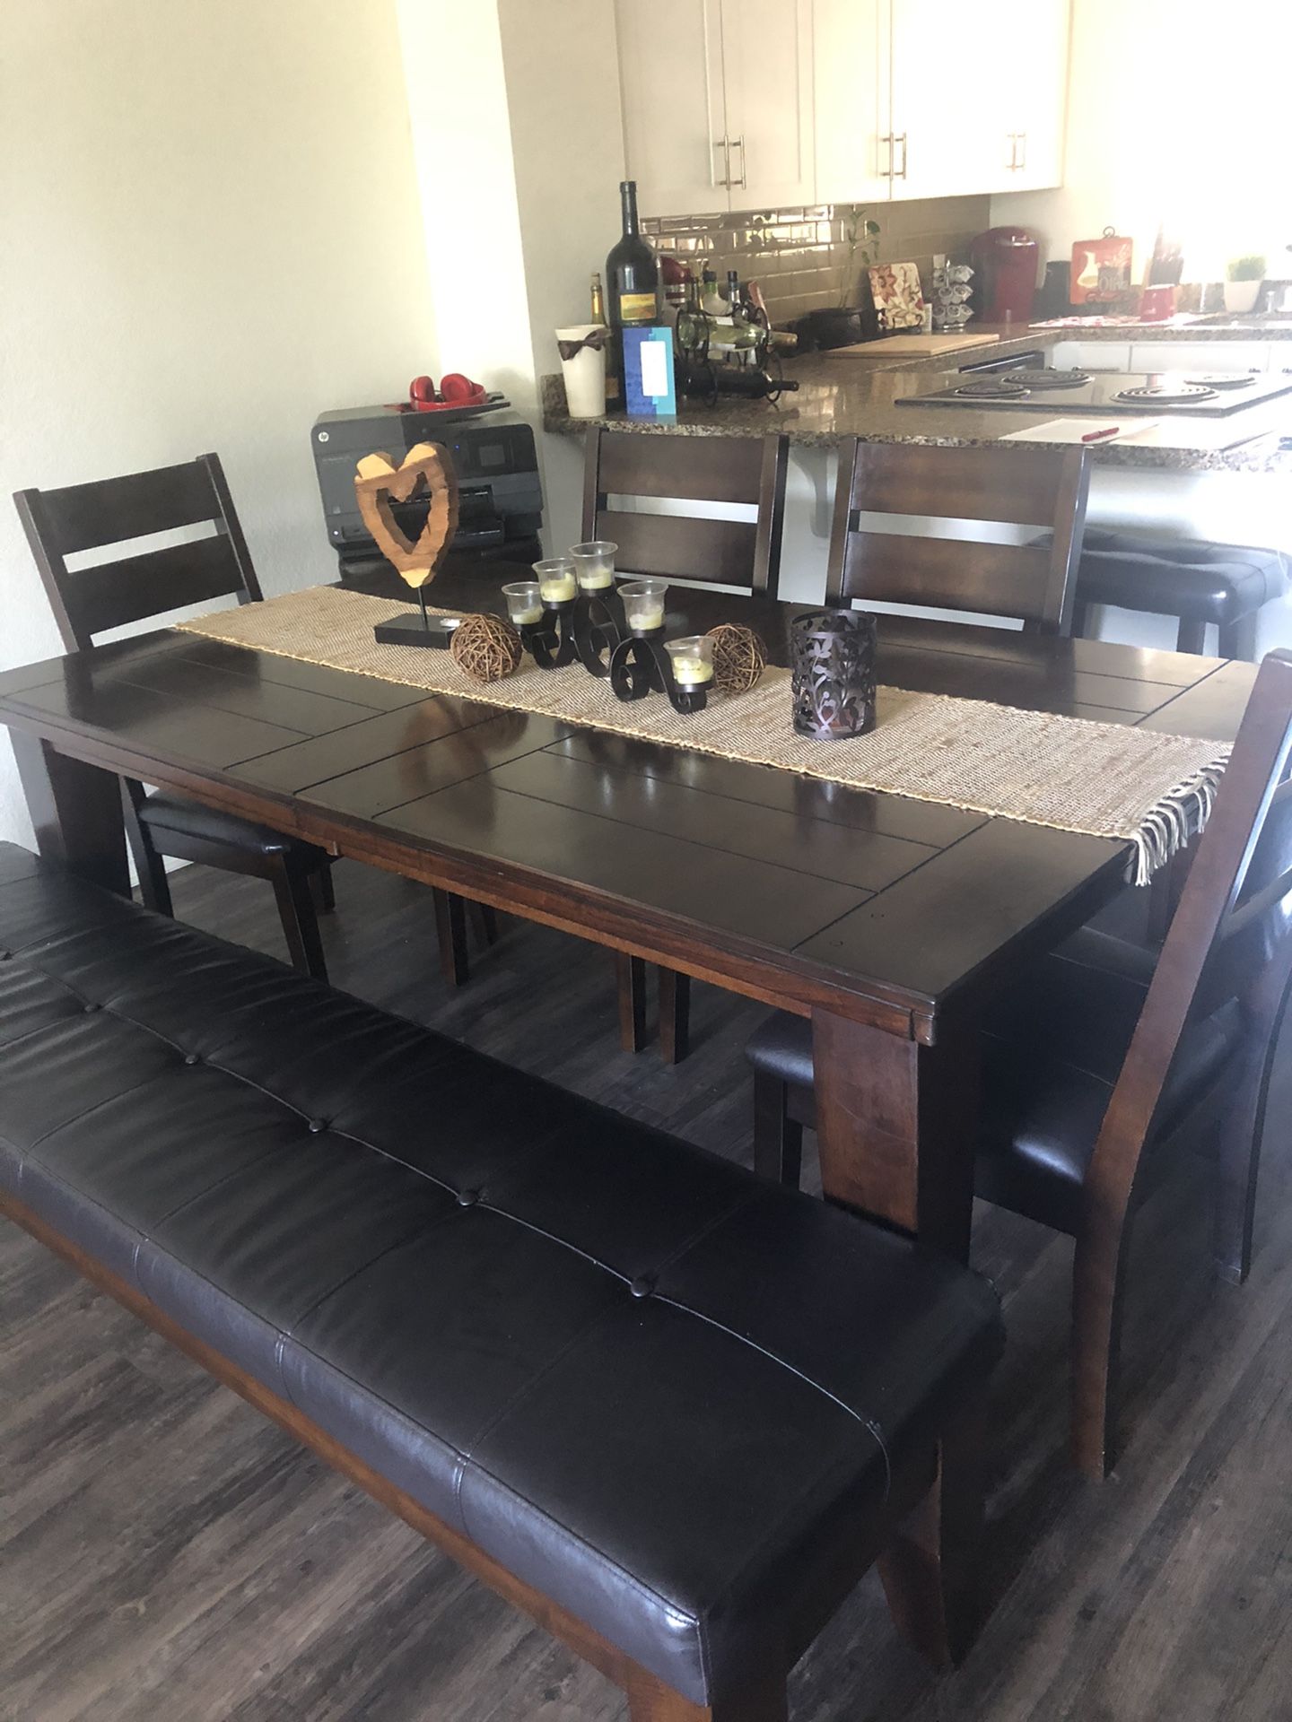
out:
M229 594L241 603L260 598L217 455L60 491L19 491L14 505L69 651L169 610ZM67 567L79 551L207 523L215 529L208 537Z

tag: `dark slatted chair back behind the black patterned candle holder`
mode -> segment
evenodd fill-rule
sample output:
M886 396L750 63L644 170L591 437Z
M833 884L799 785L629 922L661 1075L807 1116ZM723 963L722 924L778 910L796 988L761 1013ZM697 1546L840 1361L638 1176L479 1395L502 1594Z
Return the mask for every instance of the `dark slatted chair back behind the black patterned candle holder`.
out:
M839 444L827 604L853 599L1008 616L1068 634L1089 449ZM984 542L885 530L872 517L1046 527L1046 541ZM865 517L865 518L863 518Z

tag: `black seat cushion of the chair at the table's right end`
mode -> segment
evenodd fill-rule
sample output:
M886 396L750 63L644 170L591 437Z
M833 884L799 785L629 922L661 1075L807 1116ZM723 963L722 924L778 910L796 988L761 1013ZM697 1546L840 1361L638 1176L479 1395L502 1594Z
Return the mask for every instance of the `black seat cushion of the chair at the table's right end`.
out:
M977 1190L1071 1231L1121 1062L1152 980L1152 952L1082 928L999 1000L984 1035ZM1242 1035L1235 1002L1190 1023L1166 1083L1159 1138L1223 1071ZM798 1087L811 1124L811 1025L784 1013L751 1037L749 1061Z

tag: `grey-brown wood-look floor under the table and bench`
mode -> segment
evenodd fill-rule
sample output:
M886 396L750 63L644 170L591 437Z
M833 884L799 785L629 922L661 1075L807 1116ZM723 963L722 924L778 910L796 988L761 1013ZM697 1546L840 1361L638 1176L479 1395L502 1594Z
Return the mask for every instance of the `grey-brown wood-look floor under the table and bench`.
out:
M505 923L450 994L417 887L355 864L332 978L720 1152L748 1155L760 1009L696 988L691 1059L617 1050L606 952ZM181 916L279 952L270 892L189 870ZM1292 1064L1292 1059L1287 1061ZM1144 1211L1128 1450L1065 1465L1071 1247L984 1209L1006 1298L984 1553L992 1619L935 1679L873 1576L804 1657L794 1722L1292 1717L1292 1154L1271 1102L1259 1254L1206 1267L1201 1168ZM12 1226L0 1223L5 1722L612 1722L618 1693Z

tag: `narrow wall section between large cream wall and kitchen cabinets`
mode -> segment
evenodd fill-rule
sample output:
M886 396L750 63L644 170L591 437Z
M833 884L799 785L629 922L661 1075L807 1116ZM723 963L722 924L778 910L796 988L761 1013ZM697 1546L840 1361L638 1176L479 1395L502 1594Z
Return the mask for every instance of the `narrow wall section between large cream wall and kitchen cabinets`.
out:
M579 537L582 460L539 429L555 329L587 322L618 236L624 134L610 0L398 0L441 363L537 434L544 539ZM457 74L457 76L455 76Z

